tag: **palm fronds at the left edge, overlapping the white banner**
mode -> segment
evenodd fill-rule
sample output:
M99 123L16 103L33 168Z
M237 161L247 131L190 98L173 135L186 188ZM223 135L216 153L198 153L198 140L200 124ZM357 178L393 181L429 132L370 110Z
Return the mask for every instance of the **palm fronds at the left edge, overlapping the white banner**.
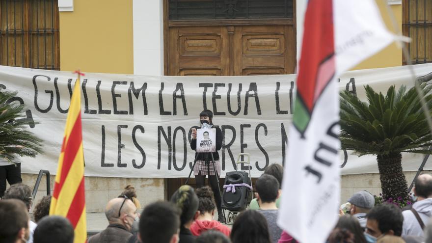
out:
M0 91L0 159L18 162L17 156L35 157L41 152L42 140L26 129L24 105L8 100L16 92Z

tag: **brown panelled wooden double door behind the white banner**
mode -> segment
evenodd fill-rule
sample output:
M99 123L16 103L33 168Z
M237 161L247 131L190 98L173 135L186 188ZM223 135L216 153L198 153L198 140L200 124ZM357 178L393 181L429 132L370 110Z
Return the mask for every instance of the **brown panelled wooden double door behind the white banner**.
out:
M294 73L296 34L291 22L235 24L175 26L174 23L174 26L168 27L164 40L165 75L238 76ZM185 182L186 178L166 179L166 198ZM220 178L220 188L223 184L224 178ZM193 175L189 185L196 185Z

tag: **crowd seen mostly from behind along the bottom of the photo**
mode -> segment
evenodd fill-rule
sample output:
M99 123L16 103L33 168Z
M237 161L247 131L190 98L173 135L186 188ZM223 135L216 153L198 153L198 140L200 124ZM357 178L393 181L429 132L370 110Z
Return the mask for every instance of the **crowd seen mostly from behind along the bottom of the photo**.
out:
M255 199L229 226L215 220L216 200L208 187L188 185L175 191L169 201L144 207L134 187L127 186L108 201L108 227L88 238L88 243L298 243L276 224L283 168L270 164L256 181ZM394 204L375 205L367 191L348 199L327 243L432 243L432 175L415 181L417 201L410 208ZM31 189L13 184L0 200L0 243L72 243L74 229L68 219L49 216L51 196L44 196L33 209ZM296 220L293 218L293 220ZM313 232L311 232L313 233Z

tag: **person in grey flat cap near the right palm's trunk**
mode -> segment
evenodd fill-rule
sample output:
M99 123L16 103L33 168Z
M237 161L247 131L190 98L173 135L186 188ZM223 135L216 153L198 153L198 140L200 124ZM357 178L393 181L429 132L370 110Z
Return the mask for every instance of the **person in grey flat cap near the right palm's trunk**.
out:
M374 196L366 190L354 193L348 202L351 203L350 214L357 218L360 226L366 228L366 215L375 205Z

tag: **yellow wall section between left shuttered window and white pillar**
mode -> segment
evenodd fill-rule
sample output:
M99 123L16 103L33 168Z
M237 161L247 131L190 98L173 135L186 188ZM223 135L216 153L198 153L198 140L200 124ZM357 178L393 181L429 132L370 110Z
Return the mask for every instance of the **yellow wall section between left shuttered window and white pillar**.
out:
M132 0L74 0L60 12L60 69L134 73Z

